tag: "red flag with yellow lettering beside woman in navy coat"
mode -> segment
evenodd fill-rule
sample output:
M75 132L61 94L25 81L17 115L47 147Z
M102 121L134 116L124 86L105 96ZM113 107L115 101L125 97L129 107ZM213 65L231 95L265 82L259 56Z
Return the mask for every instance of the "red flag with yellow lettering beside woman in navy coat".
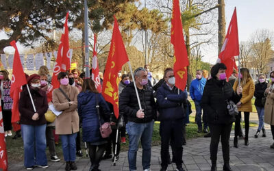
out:
M122 66L128 61L129 59L119 31L119 25L114 16L114 28L110 44L110 53L108 53L108 60L103 75L102 94L105 101L112 103L116 118L119 117L118 84L120 80L118 73L122 69Z

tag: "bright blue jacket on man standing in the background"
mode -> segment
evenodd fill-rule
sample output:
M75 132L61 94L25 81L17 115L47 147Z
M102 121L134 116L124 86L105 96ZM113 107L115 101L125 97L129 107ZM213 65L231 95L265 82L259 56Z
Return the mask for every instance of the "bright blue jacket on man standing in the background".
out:
M206 79L202 77L201 79L195 79L190 83L190 96L193 101L201 101L203 96L203 88L206 85Z

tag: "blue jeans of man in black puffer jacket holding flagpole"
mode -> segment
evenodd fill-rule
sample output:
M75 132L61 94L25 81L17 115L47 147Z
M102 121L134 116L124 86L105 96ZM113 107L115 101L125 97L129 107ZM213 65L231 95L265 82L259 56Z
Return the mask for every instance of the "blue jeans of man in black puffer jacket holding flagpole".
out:
M151 159L151 137L154 121L147 123L127 122L127 133L129 135L128 161L129 170L136 170L136 155L138 144L142 144L142 169L150 168Z

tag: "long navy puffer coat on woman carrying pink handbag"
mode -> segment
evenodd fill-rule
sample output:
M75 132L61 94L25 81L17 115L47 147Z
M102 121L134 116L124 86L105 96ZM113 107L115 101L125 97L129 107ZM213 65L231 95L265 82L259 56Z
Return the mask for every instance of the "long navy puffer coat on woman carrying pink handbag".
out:
M82 118L83 142L101 142L105 139L101 137L99 130L99 117L96 109L96 96L100 106L101 124L110 120L110 109L101 94L90 91L81 92L77 96L78 114Z

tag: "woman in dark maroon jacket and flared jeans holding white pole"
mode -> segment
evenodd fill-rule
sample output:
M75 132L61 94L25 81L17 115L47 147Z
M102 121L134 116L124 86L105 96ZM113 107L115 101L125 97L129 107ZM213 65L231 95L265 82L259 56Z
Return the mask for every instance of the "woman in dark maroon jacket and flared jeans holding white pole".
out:
M40 89L40 76L27 78L30 88L20 94L19 111L21 114L21 131L24 142L24 163L27 170L34 167L48 168L46 155L45 113L49 108L46 92ZM28 91L28 89L30 89ZM32 101L33 99L33 101Z

